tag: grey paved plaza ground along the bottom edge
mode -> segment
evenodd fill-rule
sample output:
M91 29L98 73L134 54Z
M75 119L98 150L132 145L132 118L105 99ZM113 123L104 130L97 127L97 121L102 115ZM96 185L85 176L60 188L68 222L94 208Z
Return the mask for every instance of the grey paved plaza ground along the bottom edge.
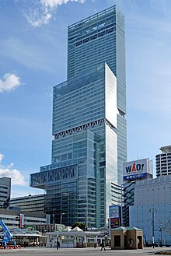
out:
M109 256L147 256L154 255L156 251L168 251L169 248L144 248L140 250L110 250L110 248L106 248L106 251L100 251L100 247L94 248L60 248L59 250L55 248L45 248L45 247L26 247L21 249L3 249L0 251L0 255L20 255L20 256L52 256L52 255L61 255L61 256L99 256L109 255Z

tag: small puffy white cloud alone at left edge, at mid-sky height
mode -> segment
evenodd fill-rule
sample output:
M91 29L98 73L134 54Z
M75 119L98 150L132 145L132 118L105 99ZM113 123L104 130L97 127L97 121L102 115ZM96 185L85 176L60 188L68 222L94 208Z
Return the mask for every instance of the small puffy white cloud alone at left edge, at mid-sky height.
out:
M16 89L21 85L20 78L16 74L5 74L2 79L0 79L0 93L6 91L10 92L12 89Z

